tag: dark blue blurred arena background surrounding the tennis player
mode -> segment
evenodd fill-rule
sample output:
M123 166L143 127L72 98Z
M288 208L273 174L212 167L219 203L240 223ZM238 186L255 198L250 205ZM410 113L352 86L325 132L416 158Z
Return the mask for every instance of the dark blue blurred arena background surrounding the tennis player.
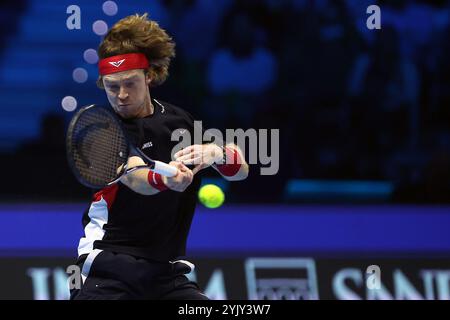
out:
M278 132L248 179L203 172L225 193L198 203L187 244L208 297L450 299L444 0L2 1L0 299L69 298L91 191L67 126L108 105L106 29L145 12L177 45L152 97L205 128Z

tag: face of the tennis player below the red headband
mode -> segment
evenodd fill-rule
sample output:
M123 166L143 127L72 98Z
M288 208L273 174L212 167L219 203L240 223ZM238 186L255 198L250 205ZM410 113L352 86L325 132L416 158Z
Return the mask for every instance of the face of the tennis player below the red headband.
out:
M103 77L106 96L122 118L135 118L144 110L150 84L143 70L128 70Z

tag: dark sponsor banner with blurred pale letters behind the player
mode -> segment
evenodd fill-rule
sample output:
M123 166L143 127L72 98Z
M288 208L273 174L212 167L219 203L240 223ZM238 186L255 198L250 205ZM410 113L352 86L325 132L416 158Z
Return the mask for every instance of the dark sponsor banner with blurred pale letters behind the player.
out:
M450 259L247 257L191 259L211 299L449 300ZM0 299L68 299L68 258L1 258ZM69 271L69 272L67 272Z

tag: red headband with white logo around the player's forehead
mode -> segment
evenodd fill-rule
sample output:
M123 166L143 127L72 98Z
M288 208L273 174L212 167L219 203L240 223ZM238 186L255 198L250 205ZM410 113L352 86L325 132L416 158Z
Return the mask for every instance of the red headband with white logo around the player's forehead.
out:
M148 67L148 60L142 53L120 54L101 59L98 63L101 76L132 69L147 69Z

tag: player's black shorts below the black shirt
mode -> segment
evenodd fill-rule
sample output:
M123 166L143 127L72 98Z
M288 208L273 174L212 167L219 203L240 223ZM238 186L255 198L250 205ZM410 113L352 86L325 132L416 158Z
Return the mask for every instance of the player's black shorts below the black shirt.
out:
M71 289L71 300L208 300L186 277L189 263L150 262L106 250L93 253L77 262L83 281L80 289Z

